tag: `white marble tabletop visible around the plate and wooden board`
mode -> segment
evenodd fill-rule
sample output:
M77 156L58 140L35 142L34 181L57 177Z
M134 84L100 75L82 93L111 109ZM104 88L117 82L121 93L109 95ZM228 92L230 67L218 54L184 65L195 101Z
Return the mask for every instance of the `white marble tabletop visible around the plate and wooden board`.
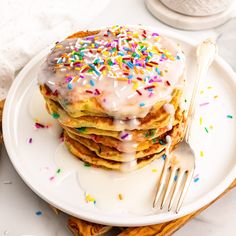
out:
M234 63L233 59L235 57L232 55L236 55L236 47L233 44L235 36L230 32L233 28L235 31L236 21L227 27L216 30L179 31L163 25L152 17L146 10L142 0L112 0L89 27L94 28L112 24L151 25L180 32L197 40L224 32L219 43L221 46L226 43L226 47L230 50L224 50L221 47L220 52L227 57L226 59L229 62ZM227 33L226 36L225 33ZM230 53L231 49L234 50L234 53ZM39 216L36 215L38 211L42 213ZM67 217L65 214L55 215L47 203L37 197L24 184L15 172L3 148L0 158L0 236L69 236L71 234L66 228ZM235 219L236 189L189 222L175 235L233 236L236 235Z

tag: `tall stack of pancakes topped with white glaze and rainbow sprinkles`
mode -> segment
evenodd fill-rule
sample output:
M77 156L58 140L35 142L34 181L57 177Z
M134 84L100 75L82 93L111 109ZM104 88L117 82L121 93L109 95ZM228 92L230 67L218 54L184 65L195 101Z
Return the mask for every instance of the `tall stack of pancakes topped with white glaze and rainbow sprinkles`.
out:
M141 28L78 32L56 43L39 72L48 112L82 161L130 171L182 138L184 56Z

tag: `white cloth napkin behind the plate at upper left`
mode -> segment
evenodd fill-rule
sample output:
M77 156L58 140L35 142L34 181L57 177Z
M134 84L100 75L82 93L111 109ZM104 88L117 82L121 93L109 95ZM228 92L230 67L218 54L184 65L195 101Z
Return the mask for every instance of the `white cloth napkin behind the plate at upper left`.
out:
M110 0L5 0L0 3L0 100L35 54L86 28Z

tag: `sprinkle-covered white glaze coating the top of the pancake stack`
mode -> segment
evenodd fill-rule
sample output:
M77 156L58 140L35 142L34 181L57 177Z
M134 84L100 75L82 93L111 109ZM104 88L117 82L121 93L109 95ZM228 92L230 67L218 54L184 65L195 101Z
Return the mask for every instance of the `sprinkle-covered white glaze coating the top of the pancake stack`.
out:
M112 27L109 28L109 35L105 37L104 34L106 35L107 32L108 29L101 30L95 39L88 36L82 39L66 39L57 44L47 61L42 65L39 72L39 82L46 84L52 91L57 90L60 102L64 107L68 103L95 97L105 112L117 119L144 117L155 103L169 98L173 88L179 86L179 79L184 70L183 53L174 42L158 36L156 33L153 34L153 32L126 27ZM114 34L117 32L120 34L115 36ZM146 35L145 40L142 36L143 32ZM129 38L132 40L128 44L126 39ZM144 48L146 47L146 50L141 52L142 49L139 46L133 46L138 45L138 43L141 43ZM101 52L92 48L93 44L97 44ZM71 54L71 46L76 50L83 48L81 52L84 56L80 62L72 62L71 64L69 59L62 57L62 54L66 53L69 58L73 56L72 61L79 59L78 55ZM117 47L118 54L121 53L122 55L110 53L110 46L111 48ZM148 63L153 62L158 63L158 65L153 64L152 67L149 67L143 59L139 59L138 56L131 56L129 50L132 50L132 53L139 54L139 56L141 55L141 57L144 56L144 58L149 55L147 53L151 53ZM144 54L142 55L142 53ZM162 57L163 55L166 56L166 59ZM131 58L136 71L133 68L129 69L126 65L129 70L128 74L124 75L127 71L125 64L123 63L121 68L118 64L120 60L131 63L129 58ZM94 64L97 59L99 63ZM104 61L107 59L110 59L113 65L101 70L104 67ZM65 66L65 63L69 63L70 66ZM90 69L94 68L94 70L92 69L93 72L84 72L84 65L89 65ZM52 70L55 70L55 66L58 68L56 73L53 73ZM132 78L128 79L129 76ZM72 79L70 82L68 82L69 77ZM122 80L118 78L122 78ZM141 78L142 81L137 78ZM68 84L71 86L70 89L68 89ZM155 87L147 89L149 86ZM96 89L100 94L95 91ZM136 90L140 91L142 95L140 96Z

